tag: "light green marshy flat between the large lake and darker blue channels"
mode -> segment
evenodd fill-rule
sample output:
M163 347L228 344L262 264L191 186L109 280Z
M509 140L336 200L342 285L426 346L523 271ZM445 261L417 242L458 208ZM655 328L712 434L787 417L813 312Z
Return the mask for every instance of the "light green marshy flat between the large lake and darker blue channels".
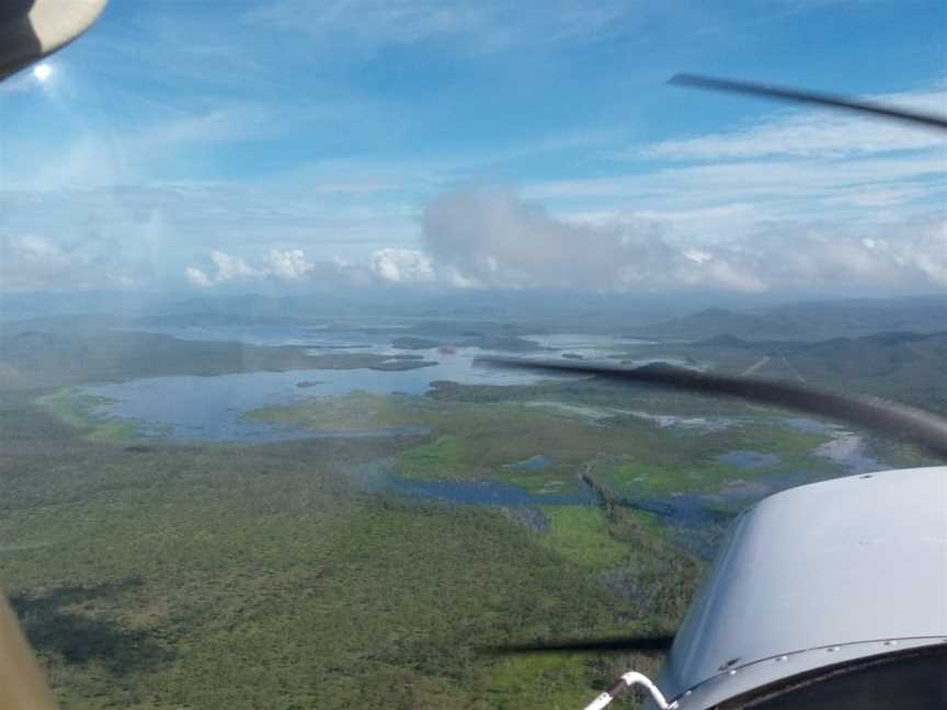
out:
M578 401L574 391L570 397ZM587 399L595 401L597 397L593 390ZM629 406L627 400L625 404ZM530 401L467 402L436 396L354 392L299 405L254 410L247 416L296 422L320 432L425 425L432 431L429 442L398 455L399 476L430 481L504 481L538 494L577 492L581 486L577 472L586 462L595 462L596 470L619 489L634 486L641 492L662 494L712 493L737 480L800 471L811 478L840 472L836 463L813 453L829 440L831 433L800 431L779 417L744 419L726 428L708 431L660 427L640 416L618 413L621 411L627 410L575 403L555 408L533 406ZM741 468L718 459L734 450L773 454L778 461L760 468ZM537 455L547 456L548 466L539 469L515 466Z

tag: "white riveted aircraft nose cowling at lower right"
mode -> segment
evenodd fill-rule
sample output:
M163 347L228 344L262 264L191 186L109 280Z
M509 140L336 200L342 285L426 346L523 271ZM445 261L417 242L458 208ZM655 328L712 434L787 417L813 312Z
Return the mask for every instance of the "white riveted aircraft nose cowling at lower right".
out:
M853 476L784 491L738 518L659 685L676 698L716 680L716 702L944 639L947 467Z

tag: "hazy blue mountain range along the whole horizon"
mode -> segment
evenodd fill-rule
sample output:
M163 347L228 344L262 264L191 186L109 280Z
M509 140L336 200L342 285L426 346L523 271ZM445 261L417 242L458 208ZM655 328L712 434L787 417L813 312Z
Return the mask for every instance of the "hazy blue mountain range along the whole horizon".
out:
M758 304L758 299L754 299ZM75 316L84 318L77 320ZM748 341L820 341L879 332L947 331L947 295L887 299L772 302L752 309L732 296L613 297L556 291L423 293L341 291L300 296L256 294L174 298L104 294L7 294L0 321L38 319L50 328L110 325L220 325L286 320L465 318L541 332L555 324L575 332L646 339L707 340L732 335ZM8 328L10 328L8 325ZM25 323L24 323L25 325ZM15 330L16 327L14 327Z

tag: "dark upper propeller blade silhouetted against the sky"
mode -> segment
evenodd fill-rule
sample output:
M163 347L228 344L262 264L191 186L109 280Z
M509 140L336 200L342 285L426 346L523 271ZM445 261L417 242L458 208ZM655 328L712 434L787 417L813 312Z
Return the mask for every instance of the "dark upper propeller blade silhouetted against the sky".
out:
M945 115L901 108L899 106L891 106L875 101L852 99L848 96L822 93L819 91L803 91L800 89L789 89L787 87L761 84L750 81L734 81L732 79L718 79L715 77L704 77L692 73L674 75L668 83L678 87L694 87L712 91L729 91L731 93L741 93L751 96L763 96L765 99L795 101L818 106L826 106L830 108L841 108L843 111L853 111L880 116L882 118L892 118L894 121L903 121L915 125L927 126L928 128L947 130L947 116Z

